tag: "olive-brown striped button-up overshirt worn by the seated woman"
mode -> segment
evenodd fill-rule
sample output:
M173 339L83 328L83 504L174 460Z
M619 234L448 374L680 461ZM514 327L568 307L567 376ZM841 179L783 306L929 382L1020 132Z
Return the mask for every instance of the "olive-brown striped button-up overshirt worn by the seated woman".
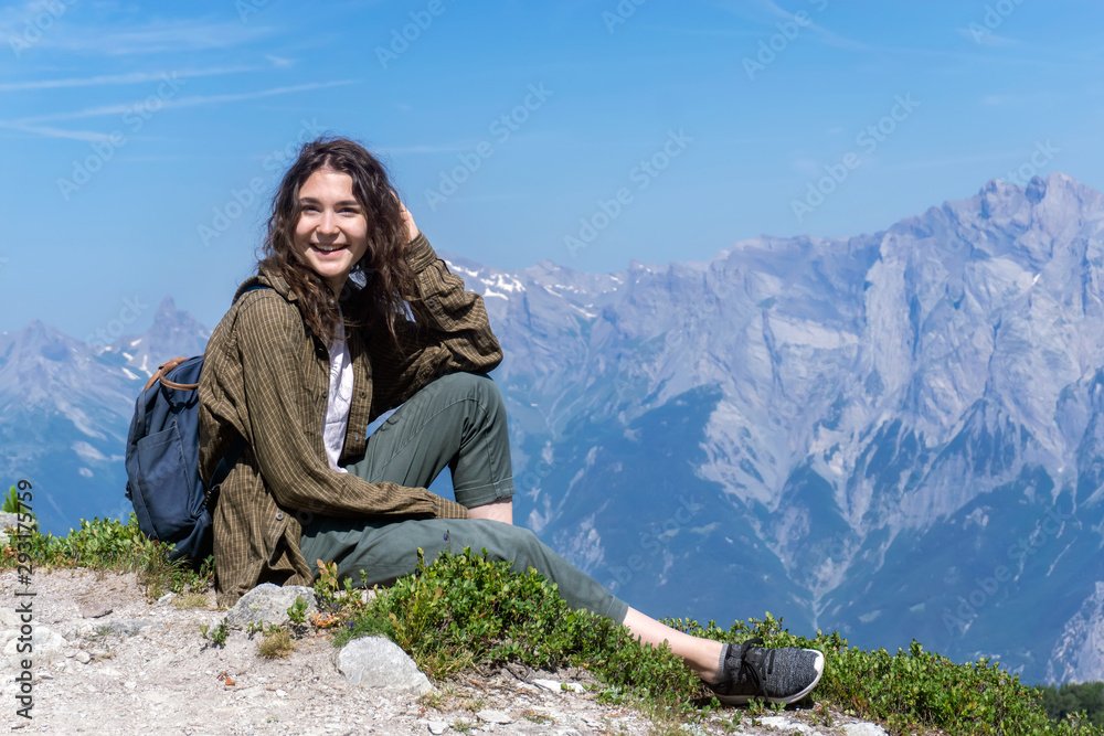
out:
M359 460L365 428L438 375L482 373L502 359L482 297L437 257L418 234L406 250L416 275L413 322L390 335L349 330L353 398L340 465ZM244 291L254 285L272 288ZM322 426L329 353L304 322L284 279L265 273L238 288L238 299L211 334L200 378L200 477L209 481L226 450L245 449L222 483L215 508L214 556L220 605L233 605L261 583L310 585L299 550L310 514L463 519L464 506L424 488L368 483L329 468Z

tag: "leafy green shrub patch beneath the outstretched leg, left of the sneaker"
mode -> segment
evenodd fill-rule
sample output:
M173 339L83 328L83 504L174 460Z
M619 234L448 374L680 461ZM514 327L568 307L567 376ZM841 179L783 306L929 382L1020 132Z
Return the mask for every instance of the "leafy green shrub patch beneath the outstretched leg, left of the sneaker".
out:
M373 633L391 638L437 678L522 662L583 666L619 691L671 703L701 694L698 678L667 647L641 646L628 629L569 608L537 572L514 573L509 563L470 550L442 554L433 565L420 553L417 570L380 591L335 643Z

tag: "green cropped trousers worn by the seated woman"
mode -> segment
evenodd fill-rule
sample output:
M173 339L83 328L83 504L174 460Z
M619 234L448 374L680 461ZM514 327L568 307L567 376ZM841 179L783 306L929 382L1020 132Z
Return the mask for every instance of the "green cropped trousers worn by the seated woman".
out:
M425 488L448 467L457 503L474 508L513 495L506 407L495 382L453 373L403 404L368 440L364 458L346 468L370 483L391 481ZM338 574L388 585L414 572L417 550L426 562L445 550L487 550L487 557L532 567L555 583L573 608L620 623L628 605L571 565L528 529L481 519L365 521L316 516L302 530L302 554L336 562Z

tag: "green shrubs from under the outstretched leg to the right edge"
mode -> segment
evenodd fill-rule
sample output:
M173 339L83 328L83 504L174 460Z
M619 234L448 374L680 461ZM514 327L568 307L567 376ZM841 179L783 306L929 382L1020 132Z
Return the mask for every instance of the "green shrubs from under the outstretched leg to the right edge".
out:
M329 585L337 587L336 582ZM818 649L827 660L824 680L813 693L819 713L826 713L828 705L881 721L893 733L1104 733L1083 719L1051 721L1040 691L986 659L955 664L925 652L917 642L895 654L884 649L863 651L849 647L838 633L794 636L769 614L762 620L735 621L728 629L713 621L666 623L718 641L761 637L768 647ZM514 573L509 564L488 562L470 550L443 554L433 565L420 557L416 572L361 607L335 643L369 633L390 637L437 678L505 662L549 669L574 665L587 668L605 683L604 700L643 695L651 711L677 707L683 718L719 705L667 647L641 646L624 627L571 610L556 587L535 572ZM762 707L752 711L761 713Z

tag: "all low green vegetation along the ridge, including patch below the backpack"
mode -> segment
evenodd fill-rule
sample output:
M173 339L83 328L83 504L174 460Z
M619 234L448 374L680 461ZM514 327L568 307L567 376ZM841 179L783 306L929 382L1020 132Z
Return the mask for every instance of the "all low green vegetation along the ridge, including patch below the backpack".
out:
M0 567L14 568L15 540L0 551ZM149 542L134 516L82 521L64 537L36 531L18 540L36 569L91 567L138 575L146 595L163 591L198 594L213 580L210 559L192 569L171 564L163 545ZM308 626L335 631L335 643L353 637L383 634L406 650L431 676L448 678L474 668L509 662L533 668L580 666L602 682L598 695L611 702L640 704L659 718L693 721L720 704L709 697L669 649L635 642L628 631L608 620L567 608L554 585L530 570L511 572L465 550L442 555L434 564L420 561L417 570L374 598L361 595L336 568L322 572L315 586L321 611L306 617L297 601L287 627L259 631L262 655L284 657ZM850 647L838 633L806 639L789 633L781 619L735 621L729 628L710 621L673 619L670 626L723 641L762 637L767 646L810 647L825 652L827 669L813 694L813 717L831 725L831 711L885 724L893 733L1104 735L1104 684L1038 689L988 660L956 664L913 642L890 653ZM225 641L224 628L205 632L212 643ZM737 724L746 713L725 710Z

